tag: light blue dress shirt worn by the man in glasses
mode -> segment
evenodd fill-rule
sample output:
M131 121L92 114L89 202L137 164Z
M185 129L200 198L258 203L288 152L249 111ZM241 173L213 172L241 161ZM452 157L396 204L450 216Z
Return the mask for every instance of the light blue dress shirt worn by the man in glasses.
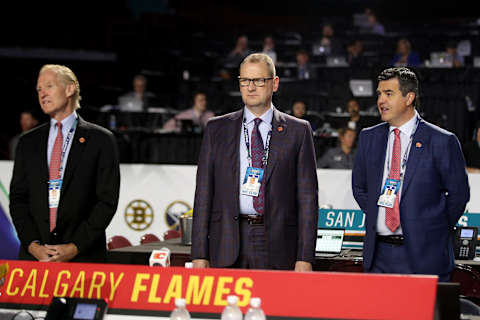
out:
M257 118L247 107L244 107L243 116L246 119L246 126L248 129L248 137L252 139L252 131L255 126L255 118ZM273 105L270 106L270 109L265 112L260 119L262 122L258 125L260 134L263 140L263 146L265 147L267 143L267 135L270 130L272 130L272 119L273 119ZM243 126L240 128L242 132L240 133L240 189L242 188L243 179L245 178L245 173L247 172L248 163L248 151L245 144L245 135L243 131ZM251 144L250 144L251 147ZM263 182L262 182L263 183ZM240 194L240 214L246 215L255 215L257 211L253 208L253 197Z

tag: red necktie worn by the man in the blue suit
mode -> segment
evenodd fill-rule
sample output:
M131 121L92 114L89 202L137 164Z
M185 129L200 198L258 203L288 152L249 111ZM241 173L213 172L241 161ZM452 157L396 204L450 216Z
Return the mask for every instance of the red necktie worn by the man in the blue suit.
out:
M400 156L402 153L401 142L400 142L400 130L394 129L395 140L393 142L393 151L392 151L392 161L390 167L390 179L400 180ZM400 186L402 187L402 186ZM400 190L399 190L400 191ZM385 224L388 229L392 232L398 229L400 226L400 207L398 204L398 192L395 197L395 203L393 208L385 208Z

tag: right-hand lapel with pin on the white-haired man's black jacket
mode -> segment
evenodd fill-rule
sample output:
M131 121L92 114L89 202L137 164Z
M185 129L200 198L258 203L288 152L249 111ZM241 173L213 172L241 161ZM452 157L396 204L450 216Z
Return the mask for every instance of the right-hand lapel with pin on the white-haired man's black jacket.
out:
M85 146L89 143L88 129L85 121L79 116L77 128L72 139L72 146L68 154L67 167L63 175L62 193L67 190L69 183L72 180L75 169L80 163L85 150Z

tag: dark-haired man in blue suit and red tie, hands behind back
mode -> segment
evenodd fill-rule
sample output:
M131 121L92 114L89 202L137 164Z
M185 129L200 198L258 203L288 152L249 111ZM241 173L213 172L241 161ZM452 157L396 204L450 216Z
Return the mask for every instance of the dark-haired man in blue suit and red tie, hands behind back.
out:
M385 122L361 131L352 173L353 195L366 215L364 270L448 281L452 231L470 199L459 141L420 118L410 69L386 69L378 81Z

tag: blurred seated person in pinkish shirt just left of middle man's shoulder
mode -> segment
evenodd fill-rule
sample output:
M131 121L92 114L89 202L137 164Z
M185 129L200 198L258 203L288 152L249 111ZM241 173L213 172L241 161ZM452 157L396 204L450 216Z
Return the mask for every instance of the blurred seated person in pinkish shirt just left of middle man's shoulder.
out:
M192 121L194 132L201 132L207 125L207 121L214 116L212 111L207 110L207 95L203 92L196 92L193 95L193 106L190 109L180 112L172 119L168 120L163 129L173 132L187 130L184 128L186 121Z

